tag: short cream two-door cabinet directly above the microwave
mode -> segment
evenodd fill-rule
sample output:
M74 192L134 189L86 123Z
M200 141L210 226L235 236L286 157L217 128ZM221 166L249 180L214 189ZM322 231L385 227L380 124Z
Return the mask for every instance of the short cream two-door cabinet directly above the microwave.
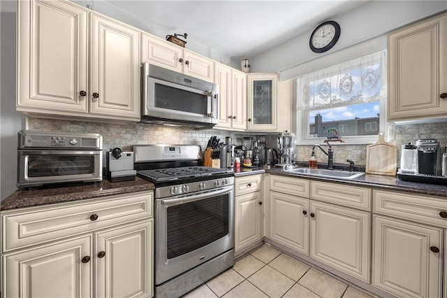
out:
M146 32L141 36L141 61L212 82L214 61Z

